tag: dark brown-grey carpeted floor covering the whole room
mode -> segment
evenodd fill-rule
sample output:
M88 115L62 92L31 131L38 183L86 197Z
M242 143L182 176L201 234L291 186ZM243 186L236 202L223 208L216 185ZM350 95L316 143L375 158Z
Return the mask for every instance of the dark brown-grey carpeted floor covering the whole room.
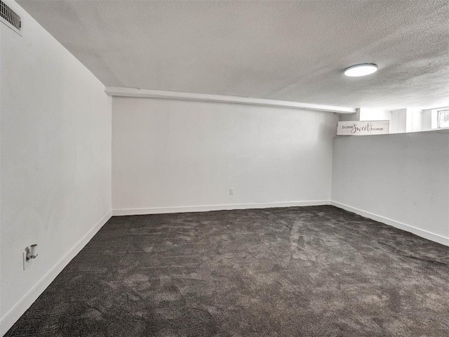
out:
M6 336L449 336L449 247L333 206L114 217Z

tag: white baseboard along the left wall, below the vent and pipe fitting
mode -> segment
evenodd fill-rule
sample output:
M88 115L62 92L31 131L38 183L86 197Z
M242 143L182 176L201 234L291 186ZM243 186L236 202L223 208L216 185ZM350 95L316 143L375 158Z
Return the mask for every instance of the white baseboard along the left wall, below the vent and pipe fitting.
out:
M43 291L53 282L59 273L65 268L66 265L76 256L76 254L83 249L86 244L93 238L95 234L100 230L107 220L112 216L112 212L108 211L105 216L103 216L98 223L86 234L79 242L77 242L70 251L63 256L58 263L56 263L51 270L49 270L46 275L44 275L36 285L28 291L28 293L23 296L23 298L11 309L4 317L0 319L0 336L11 329L11 326L24 314L25 311L34 303L34 301L43 293Z

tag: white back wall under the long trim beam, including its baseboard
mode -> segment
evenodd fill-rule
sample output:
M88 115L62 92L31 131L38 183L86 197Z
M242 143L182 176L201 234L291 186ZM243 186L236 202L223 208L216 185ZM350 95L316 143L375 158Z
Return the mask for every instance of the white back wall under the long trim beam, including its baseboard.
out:
M113 98L113 214L322 204L336 124L330 112Z

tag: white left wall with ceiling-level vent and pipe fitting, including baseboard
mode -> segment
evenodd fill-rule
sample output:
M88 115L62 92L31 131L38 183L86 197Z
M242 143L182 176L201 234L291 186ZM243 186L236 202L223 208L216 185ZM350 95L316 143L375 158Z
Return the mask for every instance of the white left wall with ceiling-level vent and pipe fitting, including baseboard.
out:
M1 333L109 218L111 98L25 11L0 24ZM22 270L22 251L39 257ZM78 244L78 245L77 245Z

